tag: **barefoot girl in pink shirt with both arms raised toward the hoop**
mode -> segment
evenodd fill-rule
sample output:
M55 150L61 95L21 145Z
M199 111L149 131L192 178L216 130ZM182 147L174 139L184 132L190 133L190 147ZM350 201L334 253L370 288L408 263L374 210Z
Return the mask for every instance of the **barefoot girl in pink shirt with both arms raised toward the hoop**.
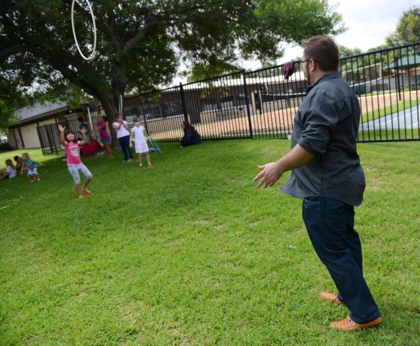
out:
M86 128L82 128L80 131L83 135L82 141L76 142L76 136L74 132L68 131L64 135L64 126L58 125L58 129L60 130L60 141L65 146L66 151L66 158L67 158L67 168L73 177L74 180L74 188L76 189L76 193L78 198L88 197L92 194L92 191L88 190L88 185L92 179L92 173L86 168L85 165L81 163L80 160L80 146L84 145L88 142L86 138ZM83 188L80 191L80 175L79 171L85 176L85 182L83 183ZM85 193L86 195L83 195Z

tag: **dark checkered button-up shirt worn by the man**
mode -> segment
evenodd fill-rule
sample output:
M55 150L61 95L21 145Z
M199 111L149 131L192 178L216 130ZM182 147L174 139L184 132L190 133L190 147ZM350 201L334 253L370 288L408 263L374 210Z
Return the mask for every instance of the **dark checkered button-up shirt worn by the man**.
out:
M311 85L295 116L291 147L299 143L315 159L292 170L280 191L360 205L365 178L356 150L359 119L359 101L340 72Z

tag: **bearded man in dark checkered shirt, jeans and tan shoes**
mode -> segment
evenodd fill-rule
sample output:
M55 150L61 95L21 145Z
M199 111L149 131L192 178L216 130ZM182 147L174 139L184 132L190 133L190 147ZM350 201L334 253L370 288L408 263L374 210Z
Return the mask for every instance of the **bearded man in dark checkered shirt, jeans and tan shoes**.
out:
M303 219L312 245L327 267L338 293L321 298L346 304L350 315L330 327L344 331L372 327L381 313L362 270L362 248L354 229L354 207L362 203L365 178L356 150L360 106L338 72L340 53L326 36L303 44L301 62L310 85L295 116L291 150L278 161L259 166L258 187L273 186L284 172L281 192L303 198Z

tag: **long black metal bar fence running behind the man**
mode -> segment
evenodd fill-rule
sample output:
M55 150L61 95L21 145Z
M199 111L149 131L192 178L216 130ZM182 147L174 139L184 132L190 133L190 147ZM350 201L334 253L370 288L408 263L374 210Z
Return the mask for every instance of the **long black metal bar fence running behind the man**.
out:
M420 43L341 59L341 72L357 94L359 141L418 140ZM182 137L189 120L203 139L287 138L306 93L300 63L286 80L284 65L238 71L213 79L128 97L124 116L139 116L160 141Z

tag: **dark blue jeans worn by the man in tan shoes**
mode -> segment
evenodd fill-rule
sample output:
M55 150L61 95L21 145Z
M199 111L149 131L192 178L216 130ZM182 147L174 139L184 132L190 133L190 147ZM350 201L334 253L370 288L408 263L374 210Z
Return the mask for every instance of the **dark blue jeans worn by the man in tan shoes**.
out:
M356 323L381 316L363 278L362 246L354 229L354 207L326 197L303 202L303 219L312 245L339 290L339 299Z

